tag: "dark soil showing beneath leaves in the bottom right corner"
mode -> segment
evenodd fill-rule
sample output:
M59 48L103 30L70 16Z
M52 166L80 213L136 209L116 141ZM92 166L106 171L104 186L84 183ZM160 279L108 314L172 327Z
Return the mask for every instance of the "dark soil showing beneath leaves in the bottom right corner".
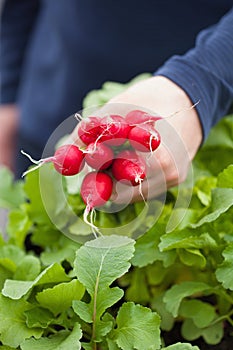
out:
M162 332L166 346L175 344L178 342L191 343L197 345L200 350L233 350L233 327L227 325L225 327L225 334L222 341L217 345L207 344L203 338L199 338L195 341L187 341L182 338L180 333L180 325L176 324L170 332Z

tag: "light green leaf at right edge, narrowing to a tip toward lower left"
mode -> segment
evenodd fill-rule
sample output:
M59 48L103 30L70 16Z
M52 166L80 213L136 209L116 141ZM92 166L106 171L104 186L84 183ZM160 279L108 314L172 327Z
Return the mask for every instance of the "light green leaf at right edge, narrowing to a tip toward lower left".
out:
M212 191L211 212L205 215L191 227L197 228L205 223L215 221L221 214L225 213L233 205L233 189L215 188Z

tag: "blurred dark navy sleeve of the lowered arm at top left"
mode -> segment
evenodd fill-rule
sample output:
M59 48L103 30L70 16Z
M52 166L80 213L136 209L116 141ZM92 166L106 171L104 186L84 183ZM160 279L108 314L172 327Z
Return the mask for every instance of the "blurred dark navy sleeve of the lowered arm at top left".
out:
M0 103L14 103L39 0L6 0L0 30Z

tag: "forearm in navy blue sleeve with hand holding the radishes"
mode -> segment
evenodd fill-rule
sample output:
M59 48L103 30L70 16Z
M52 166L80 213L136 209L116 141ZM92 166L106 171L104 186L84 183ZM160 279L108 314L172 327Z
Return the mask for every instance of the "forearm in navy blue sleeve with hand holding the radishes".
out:
M186 55L172 57L154 77L109 102L108 110L111 103L125 103L167 117L156 123L163 142L150 157L149 179L142 184L144 196L158 196L185 180L203 138L233 103L232 23L233 10L218 25L201 32L196 47ZM135 187L133 194L125 190L113 200L128 202L129 197L142 198Z

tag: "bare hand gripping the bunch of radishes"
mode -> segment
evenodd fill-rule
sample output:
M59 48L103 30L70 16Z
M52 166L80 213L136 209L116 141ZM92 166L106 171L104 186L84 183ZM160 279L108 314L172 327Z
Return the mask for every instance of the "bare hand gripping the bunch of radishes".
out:
M142 183L142 188L119 186L112 200L120 204L128 203L129 199L141 201L142 195L153 198L183 182L202 141L198 114L187 94L171 80L155 76L111 99L101 112L116 114L117 105L121 112L124 105L128 105L127 112L136 106L162 116L163 119L156 122L162 143L154 154L147 155L148 181ZM145 153L142 155L145 157Z

